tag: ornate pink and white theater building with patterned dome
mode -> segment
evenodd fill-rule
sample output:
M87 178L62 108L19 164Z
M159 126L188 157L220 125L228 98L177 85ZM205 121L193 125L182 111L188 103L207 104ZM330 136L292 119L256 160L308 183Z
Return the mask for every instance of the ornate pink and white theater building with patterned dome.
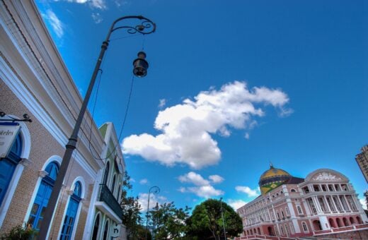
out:
M318 236L368 227L357 193L340 172L318 169L302 179L271 165L260 176L259 186L261 195L237 210L243 220L241 236L247 239Z

